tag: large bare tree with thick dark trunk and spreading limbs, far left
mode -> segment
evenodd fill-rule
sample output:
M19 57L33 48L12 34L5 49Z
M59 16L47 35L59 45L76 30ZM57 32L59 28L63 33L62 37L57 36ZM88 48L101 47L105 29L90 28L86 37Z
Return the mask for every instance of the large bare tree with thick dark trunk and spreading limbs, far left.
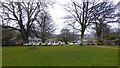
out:
M21 32L24 43L29 42L34 21L38 14L44 10L46 4L41 0L38 2L1 2L4 12L3 28L12 28Z

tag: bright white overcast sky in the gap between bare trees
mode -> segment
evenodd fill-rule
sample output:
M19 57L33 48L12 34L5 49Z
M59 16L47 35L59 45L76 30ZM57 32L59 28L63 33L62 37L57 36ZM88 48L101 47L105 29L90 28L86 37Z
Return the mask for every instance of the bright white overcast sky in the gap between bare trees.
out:
M53 17L54 22L57 25L57 30L55 33L59 34L60 30L65 26L64 20L61 19L66 15L66 11L62 5L69 3L71 0L55 0L56 4L53 5L53 8L50 8L50 14ZM82 0L77 0L82 1ZM120 0L110 0L113 1L115 4L118 3ZM62 4L62 5L61 5ZM112 24L113 26L116 26Z

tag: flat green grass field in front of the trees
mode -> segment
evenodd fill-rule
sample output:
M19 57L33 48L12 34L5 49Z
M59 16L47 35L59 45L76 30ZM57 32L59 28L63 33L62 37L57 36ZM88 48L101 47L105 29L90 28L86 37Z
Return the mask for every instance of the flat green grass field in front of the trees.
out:
M3 66L118 66L117 47L3 47Z

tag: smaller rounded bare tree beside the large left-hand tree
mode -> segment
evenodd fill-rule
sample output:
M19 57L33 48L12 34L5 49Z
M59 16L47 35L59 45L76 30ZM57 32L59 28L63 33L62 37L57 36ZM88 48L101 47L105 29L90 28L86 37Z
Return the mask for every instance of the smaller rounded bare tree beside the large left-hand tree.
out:
M55 23L48 12L42 11L38 15L36 25L33 30L33 33L37 37L40 37L43 43L45 43L45 41L54 33L56 30Z

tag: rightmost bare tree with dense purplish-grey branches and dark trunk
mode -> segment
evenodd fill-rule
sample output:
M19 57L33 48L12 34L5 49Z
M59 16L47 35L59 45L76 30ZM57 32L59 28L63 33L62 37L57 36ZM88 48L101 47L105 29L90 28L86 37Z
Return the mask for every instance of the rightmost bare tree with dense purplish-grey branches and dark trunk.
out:
M115 6L107 1L102 1L92 8L92 22L95 24L96 35L98 42L103 43L102 36L106 29L108 29L108 23L116 22L115 20Z

